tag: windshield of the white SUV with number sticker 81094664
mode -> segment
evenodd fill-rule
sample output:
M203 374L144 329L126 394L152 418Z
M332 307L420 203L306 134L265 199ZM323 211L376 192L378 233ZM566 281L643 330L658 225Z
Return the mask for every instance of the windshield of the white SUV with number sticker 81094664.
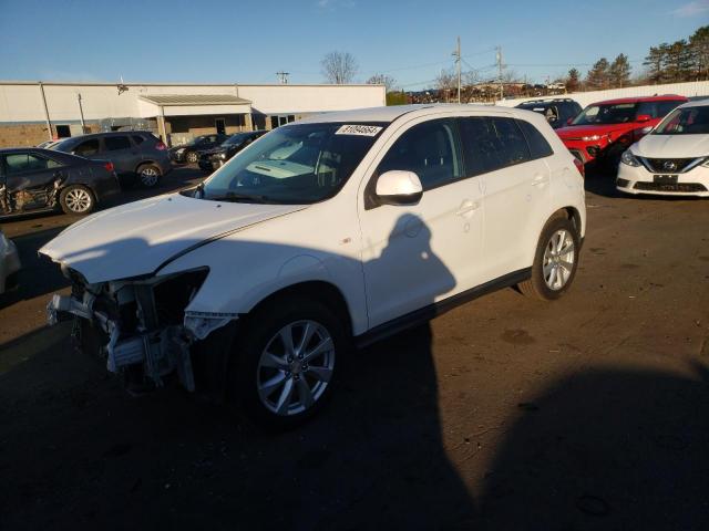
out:
M195 197L305 205L335 196L387 124L278 127L213 174Z

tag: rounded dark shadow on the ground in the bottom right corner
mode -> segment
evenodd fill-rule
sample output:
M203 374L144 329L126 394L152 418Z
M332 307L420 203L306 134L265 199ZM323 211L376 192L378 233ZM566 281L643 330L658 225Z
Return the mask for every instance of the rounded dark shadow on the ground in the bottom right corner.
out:
M479 498L486 529L709 529L709 371L598 368L522 404Z

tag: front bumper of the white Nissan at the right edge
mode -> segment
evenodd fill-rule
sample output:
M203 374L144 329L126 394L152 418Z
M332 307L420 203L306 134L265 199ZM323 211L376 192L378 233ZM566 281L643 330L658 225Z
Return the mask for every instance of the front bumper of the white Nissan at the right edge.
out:
M709 168L698 165L689 171L670 174L674 178L660 183L657 175L649 171L644 165L628 166L620 163L616 188L625 194L651 194L658 196L697 196L709 197Z

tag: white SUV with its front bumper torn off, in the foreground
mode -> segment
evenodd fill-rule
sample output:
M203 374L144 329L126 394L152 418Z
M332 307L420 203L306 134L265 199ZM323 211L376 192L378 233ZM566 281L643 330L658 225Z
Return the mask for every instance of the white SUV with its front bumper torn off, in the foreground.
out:
M290 427L330 395L347 345L503 287L562 295L585 228L576 159L543 116L415 105L279 127L203 185L40 252L73 285L50 322L73 314L131 389L172 374Z

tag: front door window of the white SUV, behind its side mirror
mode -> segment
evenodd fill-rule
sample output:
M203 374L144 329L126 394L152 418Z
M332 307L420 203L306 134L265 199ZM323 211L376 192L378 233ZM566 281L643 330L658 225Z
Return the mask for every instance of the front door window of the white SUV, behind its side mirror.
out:
M415 173L424 190L462 177L455 122L436 119L407 131L379 164L378 174L392 169Z

